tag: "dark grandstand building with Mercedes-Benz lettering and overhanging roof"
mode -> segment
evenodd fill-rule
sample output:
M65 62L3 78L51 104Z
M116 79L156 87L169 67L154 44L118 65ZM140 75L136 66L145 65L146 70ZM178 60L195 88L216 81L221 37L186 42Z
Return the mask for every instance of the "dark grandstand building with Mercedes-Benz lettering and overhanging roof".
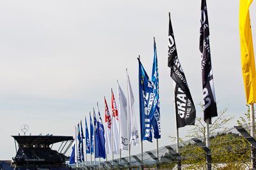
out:
M68 169L65 156L73 143L72 136L12 136L19 145L13 157L14 169ZM54 143L61 142L58 150L52 150ZM61 153L63 151L63 153Z

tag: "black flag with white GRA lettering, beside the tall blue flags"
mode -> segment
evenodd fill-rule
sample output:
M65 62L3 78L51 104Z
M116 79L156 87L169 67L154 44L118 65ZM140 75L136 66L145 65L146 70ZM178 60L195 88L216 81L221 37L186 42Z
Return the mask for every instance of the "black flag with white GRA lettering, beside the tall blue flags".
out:
M174 96L175 96L175 110L177 127L184 127L186 125L195 125L196 110L191 97L188 82L185 74L180 66L177 56L177 49L173 36L171 17L169 13L169 50L168 50L168 67L171 68L171 77L175 82Z

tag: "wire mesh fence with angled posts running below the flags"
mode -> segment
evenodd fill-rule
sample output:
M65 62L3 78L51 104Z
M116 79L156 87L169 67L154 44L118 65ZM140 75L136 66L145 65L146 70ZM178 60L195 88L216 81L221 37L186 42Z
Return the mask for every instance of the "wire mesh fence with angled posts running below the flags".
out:
M76 167L76 169L256 169L256 141L250 136L252 126L233 127L212 134L210 148L205 146L205 138L191 138L183 141L176 153L176 144L141 154L122 157L100 165Z

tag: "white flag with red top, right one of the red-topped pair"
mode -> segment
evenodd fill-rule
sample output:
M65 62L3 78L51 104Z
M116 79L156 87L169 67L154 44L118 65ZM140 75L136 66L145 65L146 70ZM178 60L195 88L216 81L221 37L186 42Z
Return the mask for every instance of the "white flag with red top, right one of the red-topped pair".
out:
M119 119L118 110L116 108L115 97L111 89L111 105L112 105L112 131L113 131L113 153L119 154Z

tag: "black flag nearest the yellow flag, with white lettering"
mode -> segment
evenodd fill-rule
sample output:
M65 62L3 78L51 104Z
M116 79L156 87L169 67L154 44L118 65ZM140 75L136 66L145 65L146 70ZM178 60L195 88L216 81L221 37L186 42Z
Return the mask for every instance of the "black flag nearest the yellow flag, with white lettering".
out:
M202 83L204 95L204 120L217 117L217 107L212 77L211 51L209 43L209 23L206 8L206 1L201 4L201 27L200 27L200 52L202 60ZM211 124L211 121L210 121Z

